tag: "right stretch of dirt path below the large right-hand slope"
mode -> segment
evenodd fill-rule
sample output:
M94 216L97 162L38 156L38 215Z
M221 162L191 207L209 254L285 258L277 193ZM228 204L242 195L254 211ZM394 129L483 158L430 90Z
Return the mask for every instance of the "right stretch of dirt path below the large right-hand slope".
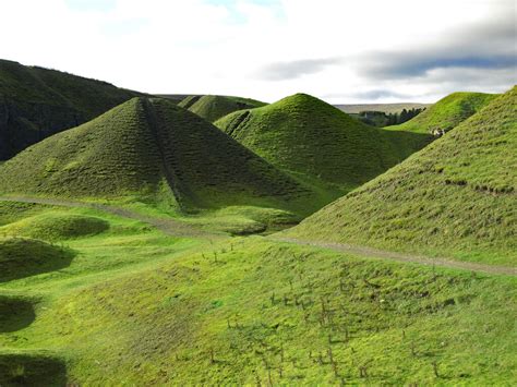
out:
M469 271L480 271L480 273L497 274L497 275L506 275L506 276L517 275L517 269L513 267L483 265L483 264L477 264L473 262L452 261L452 259L442 258L442 257L426 257L422 255L409 255L405 253L396 253L396 252L389 252L385 250L378 250L378 249L365 247L365 246L356 246L356 245L344 244L344 243L312 242L312 241L298 240L293 238L269 237L269 239L279 241L279 242L288 242L288 243L294 243L294 244L300 244L300 245L329 249L337 252L357 254L357 255L361 255L365 257L390 259L390 261L397 261L397 262L410 262L410 263L416 263L416 264L421 264L421 265L426 265L426 266L440 266L440 267L448 267L448 268L454 268L454 269L462 269L462 270L469 270Z

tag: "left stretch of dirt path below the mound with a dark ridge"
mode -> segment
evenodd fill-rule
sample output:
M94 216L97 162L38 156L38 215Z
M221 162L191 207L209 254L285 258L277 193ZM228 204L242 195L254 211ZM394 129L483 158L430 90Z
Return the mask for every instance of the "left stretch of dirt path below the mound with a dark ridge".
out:
M208 238L217 239L224 237L223 234L212 233L205 230L202 230L195 226L175 220L172 218L154 218L151 216L142 215L135 211L132 211L127 208L116 207L105 204L97 203L86 203L86 202L73 202L58 198L44 198L44 197L25 197L25 196L0 196L0 202L22 202L22 203L37 203L37 204L48 204L52 206L62 206L62 207L81 207L81 208L93 208L100 211L113 214L123 218L130 218L134 220L140 220L144 223L156 227L161 232L173 235L173 237L185 237L185 238Z

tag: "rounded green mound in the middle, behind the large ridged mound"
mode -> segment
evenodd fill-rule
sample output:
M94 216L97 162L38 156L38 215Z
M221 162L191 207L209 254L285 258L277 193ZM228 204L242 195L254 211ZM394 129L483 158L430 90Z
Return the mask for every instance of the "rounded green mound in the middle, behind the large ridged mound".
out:
M426 135L368 126L305 94L241 110L216 122L275 166L301 177L356 188L426 144Z

